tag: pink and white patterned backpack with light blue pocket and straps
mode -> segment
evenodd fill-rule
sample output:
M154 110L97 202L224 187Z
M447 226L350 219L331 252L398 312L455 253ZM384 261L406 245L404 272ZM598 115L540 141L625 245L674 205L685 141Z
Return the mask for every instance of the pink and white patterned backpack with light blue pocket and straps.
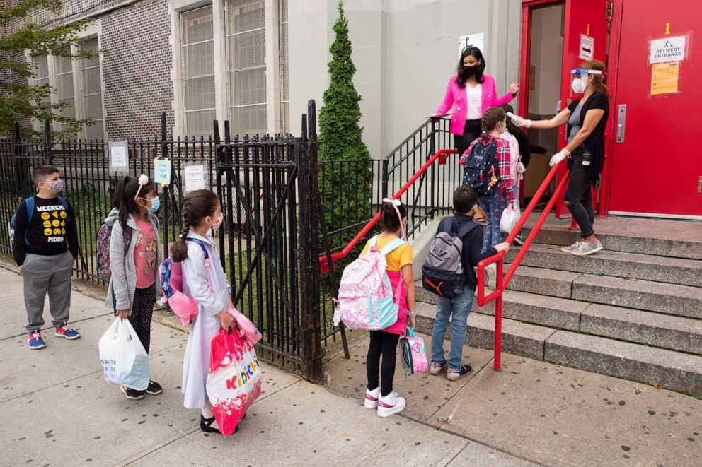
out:
M403 283L399 281L398 290L393 293L385 255L407 242L398 238L377 249L377 239L377 235L371 239L367 254L344 268L339 298L335 300L334 326L344 321L349 329L377 331L397 321L398 305L394 296L399 293Z

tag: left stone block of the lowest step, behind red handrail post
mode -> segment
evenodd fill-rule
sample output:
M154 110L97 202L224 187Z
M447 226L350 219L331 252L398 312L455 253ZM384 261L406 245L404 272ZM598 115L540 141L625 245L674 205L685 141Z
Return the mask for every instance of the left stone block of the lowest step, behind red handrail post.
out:
M430 334L434 326L436 307L424 302L417 304L417 331ZM513 319L502 319L502 350L514 355L543 360L543 343L555 329L534 326ZM446 338L451 338L451 322ZM494 348L495 318L476 312L468 316L466 344L475 348ZM431 352L430 352L431 353ZM430 355L429 355L430 356Z

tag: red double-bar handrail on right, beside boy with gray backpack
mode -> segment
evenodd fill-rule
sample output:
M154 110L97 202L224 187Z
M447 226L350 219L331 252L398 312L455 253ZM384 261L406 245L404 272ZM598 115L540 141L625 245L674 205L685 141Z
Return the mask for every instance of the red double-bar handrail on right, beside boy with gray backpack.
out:
M546 191L546 187L548 187L548 184L551 183L553 177L556 176L558 165L562 163L563 162L560 162L559 164L556 164L553 167L551 167L551 171L548 172L546 178L543 179L541 186L536 191L536 194L534 194L534 197L531 199L529 206L526 206L526 209L524 209L524 213L522 213L522 217L519 218L517 225L514 226L514 229L512 229L510 235L507 236L507 240L505 240L505 242L509 243L510 245L512 244L512 242L514 242L514 237L517 237L519 230L522 230L522 227L524 226L524 223L526 223L526 220L529 218L529 215L531 215L531 213L534 211L534 208L536 208L536 204L539 203L539 199L541 199L543 192ZM519 253L517 253L517 256L514 258L514 261L512 261L512 264L507 270L505 276L502 276L505 252L498 252L497 254L494 254L489 258L485 258L483 259L483 261L480 261L478 263L478 305L484 307L489 302L495 300L495 357L493 365L495 371L500 371L501 367L502 294L503 292L505 292L507 284L509 284L510 280L512 280L512 276L514 276L514 271L517 270L517 267L522 262L524 255L526 254L526 252L529 251L529 247L531 246L531 243L534 242L536 235L539 233L541 225L543 225L544 221L546 221L546 218L548 218L548 214L551 213L553 206L555 206L556 202L560 199L560 194L562 194L565 190L569 178L570 172L568 172L567 175L563 177L563 180L561 180L558 184L556 191L553 193L551 199L546 204L546 208L543 210L543 213L539 215L539 219L536 220L536 224L531 229L531 232L529 232L529 235L526 237L526 240L524 240L524 245L522 245L522 247L519 249ZM488 266L493 263L497 263L497 280L495 281L495 291L487 297L485 297L485 266Z

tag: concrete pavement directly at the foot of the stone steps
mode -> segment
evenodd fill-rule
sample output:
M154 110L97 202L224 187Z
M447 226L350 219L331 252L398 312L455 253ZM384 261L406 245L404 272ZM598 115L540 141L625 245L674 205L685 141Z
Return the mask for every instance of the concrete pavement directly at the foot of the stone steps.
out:
M430 349L431 336L422 338ZM364 337L350 360L330 357L330 389L363 398L367 349ZM457 382L445 373L405 380L398 358L404 418L546 466L702 466L699 399L505 353L495 372L492 350L465 345L463 355L473 372Z

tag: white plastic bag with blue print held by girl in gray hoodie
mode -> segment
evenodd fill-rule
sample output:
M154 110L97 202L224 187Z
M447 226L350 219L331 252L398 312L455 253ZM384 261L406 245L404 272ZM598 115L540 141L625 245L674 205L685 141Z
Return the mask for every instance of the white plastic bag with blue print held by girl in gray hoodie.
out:
M105 381L139 391L149 386L149 355L127 319L117 318L98 342Z

